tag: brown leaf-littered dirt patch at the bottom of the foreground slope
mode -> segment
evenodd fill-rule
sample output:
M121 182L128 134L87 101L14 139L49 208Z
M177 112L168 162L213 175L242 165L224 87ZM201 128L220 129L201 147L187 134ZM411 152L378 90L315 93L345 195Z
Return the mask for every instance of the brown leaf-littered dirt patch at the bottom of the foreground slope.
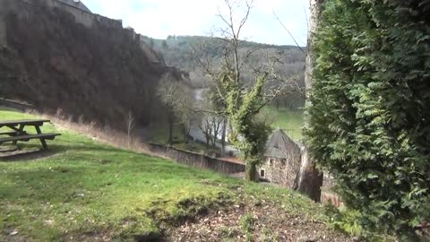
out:
M169 241L358 241L326 224L290 216L277 204L241 203L186 222L170 233Z

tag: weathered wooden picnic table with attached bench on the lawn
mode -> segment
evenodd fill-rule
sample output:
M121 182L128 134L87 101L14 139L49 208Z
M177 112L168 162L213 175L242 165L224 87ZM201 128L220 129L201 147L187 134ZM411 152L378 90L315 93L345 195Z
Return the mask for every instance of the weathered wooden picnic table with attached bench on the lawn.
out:
M0 128L8 127L10 131L0 132L0 144L12 142L29 142L30 140L39 139L44 149L47 149L46 140L54 140L56 136L61 135L57 133L42 134L40 126L44 123L49 123L47 119L22 119L22 120L5 120L0 121ZM34 126L38 134L29 134L24 131L26 126ZM5 137L4 137L5 136Z

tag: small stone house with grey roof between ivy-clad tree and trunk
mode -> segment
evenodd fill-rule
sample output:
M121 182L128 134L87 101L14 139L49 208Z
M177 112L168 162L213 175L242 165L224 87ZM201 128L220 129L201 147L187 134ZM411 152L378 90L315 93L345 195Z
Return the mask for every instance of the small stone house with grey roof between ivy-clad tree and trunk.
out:
M264 161L258 167L262 181L292 187L300 168L301 149L281 129L275 130L266 144Z

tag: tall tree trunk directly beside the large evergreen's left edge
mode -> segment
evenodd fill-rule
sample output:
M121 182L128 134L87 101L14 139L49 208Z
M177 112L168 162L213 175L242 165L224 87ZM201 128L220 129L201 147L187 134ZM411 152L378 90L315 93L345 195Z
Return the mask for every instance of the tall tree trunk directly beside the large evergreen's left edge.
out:
M309 30L307 39L307 56L305 86L306 98L309 98L309 90L312 87L312 73L314 71L314 32L318 26L323 0L310 0L311 17L309 19ZM305 125L307 117L305 116ZM321 186L323 186L323 173L316 168L315 160L309 154L307 148L302 152L300 169L297 173L294 189L302 194L308 195L315 202L321 201Z

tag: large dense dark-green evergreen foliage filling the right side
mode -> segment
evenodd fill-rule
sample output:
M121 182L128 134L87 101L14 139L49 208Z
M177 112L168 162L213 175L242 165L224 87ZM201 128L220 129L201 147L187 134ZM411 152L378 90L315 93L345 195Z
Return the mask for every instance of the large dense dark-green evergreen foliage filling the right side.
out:
M430 1L329 0L305 137L366 229L430 219Z

